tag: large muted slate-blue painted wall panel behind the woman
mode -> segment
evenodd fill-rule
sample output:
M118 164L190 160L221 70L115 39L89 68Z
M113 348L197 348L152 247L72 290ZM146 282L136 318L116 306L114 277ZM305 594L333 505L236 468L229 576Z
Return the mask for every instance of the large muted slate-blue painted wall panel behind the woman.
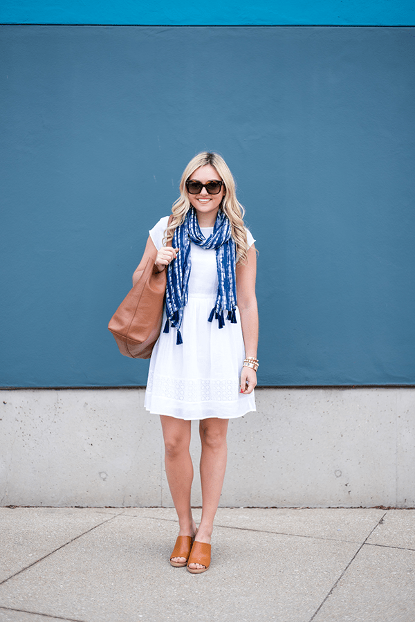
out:
M202 149L257 238L259 382L415 382L413 28L0 34L1 385L145 384L107 323Z

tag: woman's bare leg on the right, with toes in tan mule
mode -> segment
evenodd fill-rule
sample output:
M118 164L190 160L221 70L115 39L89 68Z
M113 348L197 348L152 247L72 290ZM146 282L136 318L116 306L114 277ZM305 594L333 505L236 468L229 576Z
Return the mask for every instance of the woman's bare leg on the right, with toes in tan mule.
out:
M202 518L196 535L197 542L210 544L214 516L221 498L228 457L226 444L228 423L228 419L217 419L216 417L202 419L200 422ZM189 567L192 569L203 568L201 564L190 564Z

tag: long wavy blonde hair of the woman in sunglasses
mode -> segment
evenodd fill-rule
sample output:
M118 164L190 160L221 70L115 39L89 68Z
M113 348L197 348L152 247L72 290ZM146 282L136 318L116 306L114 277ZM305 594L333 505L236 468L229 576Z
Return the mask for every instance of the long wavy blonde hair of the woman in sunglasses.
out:
M246 230L243 224L243 215L245 210L237 199L235 182L228 165L219 154L211 154L209 152L201 152L194 156L185 168L180 182L180 196L174 201L172 207L173 219L165 230L163 244L171 240L176 227L181 225L185 220L187 212L190 210L190 196L186 189L186 181L190 179L194 171L201 166L210 164L221 177L225 185L225 196L223 196L221 209L225 212L230 221L232 230L232 238L237 247L238 261L245 263L248 255L248 242L246 239Z

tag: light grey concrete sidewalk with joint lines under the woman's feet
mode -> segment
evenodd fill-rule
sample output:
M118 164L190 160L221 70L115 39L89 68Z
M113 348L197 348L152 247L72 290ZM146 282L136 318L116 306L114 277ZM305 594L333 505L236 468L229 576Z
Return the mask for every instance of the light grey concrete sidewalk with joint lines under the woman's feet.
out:
M415 510L219 509L201 575L169 565L177 531L174 509L1 508L0 621L415 620Z

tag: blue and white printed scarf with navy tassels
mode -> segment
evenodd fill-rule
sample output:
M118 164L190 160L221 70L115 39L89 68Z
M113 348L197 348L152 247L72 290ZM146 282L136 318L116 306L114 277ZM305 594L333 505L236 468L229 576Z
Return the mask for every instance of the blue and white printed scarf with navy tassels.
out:
M187 212L185 221L176 227L174 231L172 246L179 248L179 253L173 262L167 267L167 287L166 287L166 314L167 322L164 331L169 332L169 324L177 329L176 344L183 343L180 327L183 320L183 309L187 304L188 284L192 259L190 256L190 242L201 246L201 248L214 248L216 250L216 267L218 271L218 293L216 302L210 312L208 322L216 318L219 328L225 326L223 311L228 311L227 319L232 324L237 323L235 310L237 309L237 284L236 284L236 259L237 250L231 235L230 221L228 217L219 210L214 223L212 235L206 239L203 237L196 210L191 207Z

